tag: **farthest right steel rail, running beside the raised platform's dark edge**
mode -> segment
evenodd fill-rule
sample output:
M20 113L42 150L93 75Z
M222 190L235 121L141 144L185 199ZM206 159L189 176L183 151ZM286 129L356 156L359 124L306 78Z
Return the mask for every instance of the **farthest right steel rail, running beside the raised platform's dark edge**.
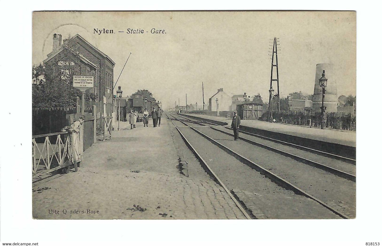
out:
M180 116L183 117L183 115L180 115ZM191 116L188 116L188 117L193 118ZM193 118L193 119L195 119L195 118ZM203 120L200 120L200 121L208 123L208 124L217 125L217 124L210 123L210 122L203 121ZM227 128L227 129L231 129L228 126L224 126L224 127ZM277 142L279 144L287 145L287 146L290 146L290 147L295 147L296 149L301 149L301 150L305 150L305 151L308 151L308 152L316 153L316 154L319 154L319 155L322 155L322 156L325 156L325 157L329 157L329 158L332 158L332 159L345 161L345 162L351 163L353 165L356 164L356 160L352 159L352 158L343 157L341 155L335 155L335 154L332 154L332 153L327 153L327 152L324 152L324 151L321 151L321 150L316 150L316 149L308 148L308 147L305 147L305 146L302 146L302 145L298 145L298 144L292 144L290 142L285 142L285 141L281 141L281 140L278 140L278 139L274 139L274 138L270 138L270 137L265 137L265 136L262 136L262 135L259 135L259 134L249 133L248 131L239 130L239 132L244 133L244 134L248 134L248 135L251 135L251 136L254 136L254 137L259 137L259 138L262 138L262 139L265 139L265 140L268 140L268 141L271 141L271 142Z

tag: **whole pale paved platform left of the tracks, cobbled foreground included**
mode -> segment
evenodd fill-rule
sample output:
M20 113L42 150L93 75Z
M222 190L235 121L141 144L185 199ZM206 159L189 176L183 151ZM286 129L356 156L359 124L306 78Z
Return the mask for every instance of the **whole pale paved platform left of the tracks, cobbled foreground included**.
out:
M78 172L33 185L35 219L245 219L207 174L180 173L176 129L165 115L160 127L150 118L149 127L120 128L83 153Z

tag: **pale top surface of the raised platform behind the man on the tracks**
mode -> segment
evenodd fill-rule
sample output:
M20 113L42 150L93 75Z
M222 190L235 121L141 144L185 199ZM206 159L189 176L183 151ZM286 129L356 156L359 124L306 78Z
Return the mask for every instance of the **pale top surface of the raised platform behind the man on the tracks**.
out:
M196 115L196 114L185 114L193 117L200 117L215 121L220 121L231 125L231 119L209 116L209 115ZM276 133L288 134L291 136L304 137L307 139L313 139L317 141L330 142L334 144L341 144L350 147L356 147L356 132L355 131L345 131L337 129L326 128L324 130L320 128L309 128L306 126L297 126L291 124L281 124L281 123L270 123L260 120L241 120L242 126L247 126L250 128L256 128L266 131L272 131Z

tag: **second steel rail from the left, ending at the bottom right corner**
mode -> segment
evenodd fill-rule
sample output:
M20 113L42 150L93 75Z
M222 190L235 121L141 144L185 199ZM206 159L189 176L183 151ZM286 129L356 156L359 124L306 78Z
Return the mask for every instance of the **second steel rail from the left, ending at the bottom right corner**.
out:
M183 123L184 125L189 126L196 133L198 133L199 135L203 136L204 138L206 138L207 140L212 142L212 144L215 144L217 147L219 147L220 149L222 149L225 152L229 153L230 155L232 155L233 157L235 157L236 159L238 159L242 163L248 165L249 167L251 167L251 168L255 169L256 171L258 171L259 173L263 174L265 177L270 179L270 181L274 182L275 184L279 185L280 187L283 187L283 188L285 188L287 190L292 190L297 195L303 195L303 196L305 196L307 198L310 198L310 199L316 201L317 203L321 204L322 206L324 206L325 208L329 209L330 211L332 211L333 213L337 214L338 216L342 217L343 219L350 219L349 216L343 214L342 212L338 211L335 208L332 208L331 206L329 206L325 202L323 202L323 201L319 200L318 198L310 195L309 193L305 192L304 190L301 190L300 188L298 188L295 185L291 184L290 182L286 181L282 177L279 177L278 175L272 173L268 169L265 169L262 166L254 163L253 161L243 157L242 155L236 153L235 151L231 150L227 146L225 146L223 144L220 144L219 142L215 141L214 139L212 139L211 137L207 136L206 134L201 133L200 131L195 129L193 126L188 125L187 123L183 122L182 120L179 120L179 121L181 123Z

